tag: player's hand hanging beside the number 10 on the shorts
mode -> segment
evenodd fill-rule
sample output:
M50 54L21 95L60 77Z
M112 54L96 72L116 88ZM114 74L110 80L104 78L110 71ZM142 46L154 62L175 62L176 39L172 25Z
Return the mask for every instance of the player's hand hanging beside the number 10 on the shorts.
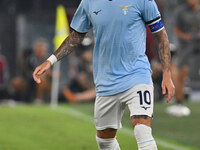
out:
M167 94L167 103L172 99L175 94L175 86L172 82L170 71L163 72L162 93L163 95Z

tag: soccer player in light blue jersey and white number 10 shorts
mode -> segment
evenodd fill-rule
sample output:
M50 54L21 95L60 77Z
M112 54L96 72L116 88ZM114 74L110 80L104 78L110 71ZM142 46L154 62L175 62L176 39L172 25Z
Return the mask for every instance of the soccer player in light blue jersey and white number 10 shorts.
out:
M139 150L156 150L151 133L153 84L145 55L148 25L157 39L163 65L163 94L167 102L175 88L170 72L170 48L160 13L154 0L82 0L71 23L73 31L33 77L41 75L56 61L75 50L93 28L95 47L93 72L96 86L95 126L100 150L120 150L117 130L125 106L130 110Z

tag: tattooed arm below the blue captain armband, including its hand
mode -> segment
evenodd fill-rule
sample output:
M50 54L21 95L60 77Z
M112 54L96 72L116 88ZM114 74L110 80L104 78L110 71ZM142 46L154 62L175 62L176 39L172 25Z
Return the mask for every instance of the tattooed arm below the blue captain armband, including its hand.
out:
M162 93L164 95L167 94L167 102L169 102L175 94L175 87L171 79L171 54L169 41L165 29L155 33L154 36L156 38L156 46L159 50L160 60L163 67Z

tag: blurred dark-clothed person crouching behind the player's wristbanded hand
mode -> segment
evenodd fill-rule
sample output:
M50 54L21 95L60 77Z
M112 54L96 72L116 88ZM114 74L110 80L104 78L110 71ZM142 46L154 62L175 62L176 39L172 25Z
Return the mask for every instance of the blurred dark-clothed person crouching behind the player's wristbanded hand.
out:
M24 98L29 101L34 100L35 103L42 103L45 92L50 91L51 72L45 74L41 84L35 84L32 78L34 68L46 60L47 50L48 42L45 39L39 38L33 44L33 52L31 50L23 52L20 60L22 76L16 77L11 81L15 89L15 95L19 95L20 90L24 91L21 96L18 96L18 99Z

